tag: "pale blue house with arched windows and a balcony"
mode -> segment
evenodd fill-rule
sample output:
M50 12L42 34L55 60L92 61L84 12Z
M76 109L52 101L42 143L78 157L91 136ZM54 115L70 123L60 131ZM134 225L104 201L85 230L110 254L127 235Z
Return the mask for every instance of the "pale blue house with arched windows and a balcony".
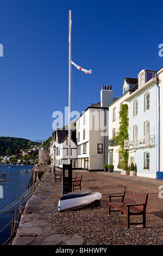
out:
M155 71L142 70L138 89L126 101L129 106L129 165L136 166L137 176L156 178L158 170L157 84Z

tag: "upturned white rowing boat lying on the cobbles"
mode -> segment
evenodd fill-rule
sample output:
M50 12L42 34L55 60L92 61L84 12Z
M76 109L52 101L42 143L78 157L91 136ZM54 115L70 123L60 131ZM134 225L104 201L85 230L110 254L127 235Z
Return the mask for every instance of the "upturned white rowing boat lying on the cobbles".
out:
M93 190L83 190L64 194L58 203L58 211L73 210L82 208L88 204L94 203L99 206L99 199L102 194Z

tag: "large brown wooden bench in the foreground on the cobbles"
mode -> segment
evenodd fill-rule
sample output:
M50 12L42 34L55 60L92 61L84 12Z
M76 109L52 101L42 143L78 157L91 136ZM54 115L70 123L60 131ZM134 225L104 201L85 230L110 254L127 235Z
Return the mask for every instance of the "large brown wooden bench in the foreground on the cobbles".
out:
M143 224L143 228L146 227L146 206L148 194L135 193L133 191L127 190L124 188L122 196L108 196L109 197L109 206L108 214L110 215L111 211L121 211L122 214L127 216L127 228L130 228L130 225ZM112 197L122 197L122 200L112 201ZM118 210L111 210L111 206ZM142 215L143 221L131 223L131 215Z

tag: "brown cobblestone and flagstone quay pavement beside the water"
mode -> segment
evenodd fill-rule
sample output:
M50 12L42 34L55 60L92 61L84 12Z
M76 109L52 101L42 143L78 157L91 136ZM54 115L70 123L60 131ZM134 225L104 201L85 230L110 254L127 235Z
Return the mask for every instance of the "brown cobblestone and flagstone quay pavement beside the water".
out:
M73 177L76 173L83 175L82 190L102 193L101 205L58 212L61 183L54 184L54 174L48 168L28 201L13 245L163 245L163 198L159 198L163 180L85 170L73 170ZM106 196L122 194L124 187L148 193L147 228L132 225L127 229L126 215L108 215ZM132 220L142 221L142 216L131 216Z

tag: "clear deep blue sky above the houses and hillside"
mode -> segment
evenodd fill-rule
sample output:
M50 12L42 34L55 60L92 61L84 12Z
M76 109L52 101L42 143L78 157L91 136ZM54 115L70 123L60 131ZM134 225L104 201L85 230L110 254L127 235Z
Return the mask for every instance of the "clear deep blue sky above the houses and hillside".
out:
M68 106L68 10L72 10L72 111L100 101L102 84L122 95L124 77L158 70L162 1L3 0L0 3L0 136L52 135Z

